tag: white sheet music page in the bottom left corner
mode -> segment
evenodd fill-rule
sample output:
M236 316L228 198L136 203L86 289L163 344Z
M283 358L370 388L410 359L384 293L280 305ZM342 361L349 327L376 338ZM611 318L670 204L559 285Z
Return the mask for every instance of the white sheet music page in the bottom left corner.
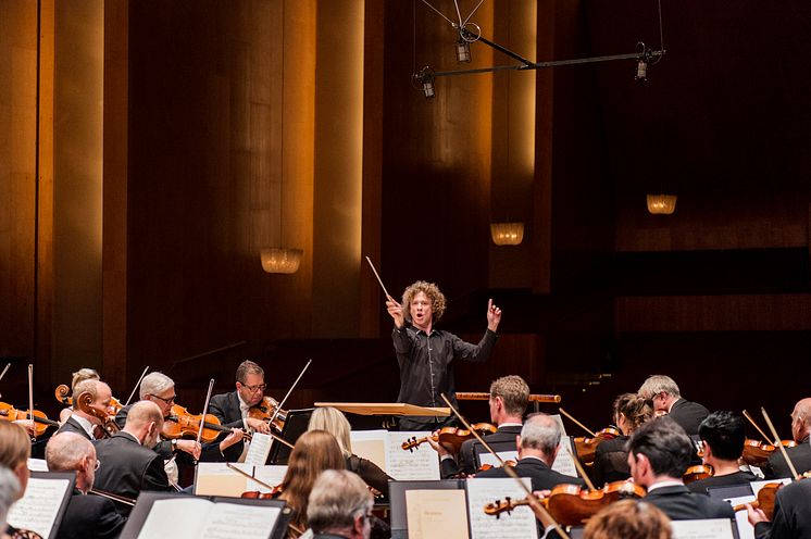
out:
M67 479L29 478L25 496L9 510L9 524L48 539L70 485Z

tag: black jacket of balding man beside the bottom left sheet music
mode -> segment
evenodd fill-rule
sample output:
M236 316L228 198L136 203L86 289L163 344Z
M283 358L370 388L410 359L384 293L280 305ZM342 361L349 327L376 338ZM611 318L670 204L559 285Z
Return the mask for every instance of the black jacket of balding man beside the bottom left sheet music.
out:
M126 522L111 500L76 490L62 517L57 539L115 539Z

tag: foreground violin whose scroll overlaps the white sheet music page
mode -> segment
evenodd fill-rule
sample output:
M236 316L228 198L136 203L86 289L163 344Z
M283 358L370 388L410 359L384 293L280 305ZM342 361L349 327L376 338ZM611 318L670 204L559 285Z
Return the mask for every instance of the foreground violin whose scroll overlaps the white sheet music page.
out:
M596 490L564 484L554 487L549 496L539 501L559 524L579 526L609 503L624 498L644 498L645 493L642 487L631 481L614 481ZM535 500L528 497L522 500L504 498L504 501L496 500L495 503L488 503L484 511L498 517L501 513L509 514L516 506L529 505L533 501Z

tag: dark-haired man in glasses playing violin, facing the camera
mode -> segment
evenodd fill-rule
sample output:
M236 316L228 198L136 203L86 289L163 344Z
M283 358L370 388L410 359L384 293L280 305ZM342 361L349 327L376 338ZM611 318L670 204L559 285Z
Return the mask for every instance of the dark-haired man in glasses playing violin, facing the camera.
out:
M215 394L209 403L209 412L226 427L249 428L257 433L271 434L271 427L262 419L248 417L248 411L264 398L264 369L252 361L244 361L237 367L236 391Z

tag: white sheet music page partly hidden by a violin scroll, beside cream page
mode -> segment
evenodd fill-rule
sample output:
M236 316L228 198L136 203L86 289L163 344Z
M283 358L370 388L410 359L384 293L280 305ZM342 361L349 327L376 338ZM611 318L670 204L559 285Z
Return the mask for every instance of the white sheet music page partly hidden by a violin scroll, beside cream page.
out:
M532 490L528 477L521 480ZM471 539L537 539L538 525L535 513L528 506L515 507L511 513L502 513L499 518L484 512L485 505L496 500L510 497L522 500L526 491L508 477L503 479L474 478L467 479L467 511L471 523Z

